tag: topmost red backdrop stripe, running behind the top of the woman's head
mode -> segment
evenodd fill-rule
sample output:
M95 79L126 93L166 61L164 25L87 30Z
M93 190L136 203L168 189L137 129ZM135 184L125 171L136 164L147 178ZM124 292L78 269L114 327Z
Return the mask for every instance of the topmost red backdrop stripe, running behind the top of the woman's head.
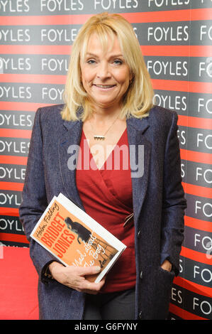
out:
M130 23L199 21L210 20L212 9L182 9L177 11L147 11L138 13L120 13ZM93 14L81 15L48 15L48 16L2 16L1 26L40 26L83 24Z

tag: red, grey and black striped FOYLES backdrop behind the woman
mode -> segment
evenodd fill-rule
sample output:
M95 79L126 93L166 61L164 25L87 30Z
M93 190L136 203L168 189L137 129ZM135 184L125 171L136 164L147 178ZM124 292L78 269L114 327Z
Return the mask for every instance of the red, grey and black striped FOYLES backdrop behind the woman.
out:
M33 119L62 102L74 38L102 11L133 24L157 104L179 114L188 208L169 318L211 319L211 0L0 1L0 318L38 318L38 278L18 220Z

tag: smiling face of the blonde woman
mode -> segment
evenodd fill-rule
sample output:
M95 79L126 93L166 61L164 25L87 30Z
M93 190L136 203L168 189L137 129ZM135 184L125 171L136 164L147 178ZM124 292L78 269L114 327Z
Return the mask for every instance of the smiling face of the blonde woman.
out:
M121 106L131 79L118 38L114 36L112 45L111 38L108 37L108 46L104 52L98 36L94 33L89 38L87 53L80 63L82 84L89 99L94 106L104 109Z

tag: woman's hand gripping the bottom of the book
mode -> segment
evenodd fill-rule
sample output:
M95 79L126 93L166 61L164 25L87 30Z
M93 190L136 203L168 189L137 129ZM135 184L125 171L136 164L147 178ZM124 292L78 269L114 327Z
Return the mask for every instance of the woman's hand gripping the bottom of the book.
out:
M98 274L101 270L99 266L63 266L59 262L52 262L49 269L56 281L77 291L97 294L104 286L105 279L102 279L99 283L94 283L85 278L87 275Z

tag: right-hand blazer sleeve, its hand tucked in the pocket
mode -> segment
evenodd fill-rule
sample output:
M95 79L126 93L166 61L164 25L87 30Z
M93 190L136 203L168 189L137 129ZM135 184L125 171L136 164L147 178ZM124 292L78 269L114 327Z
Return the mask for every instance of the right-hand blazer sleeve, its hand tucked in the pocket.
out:
M168 259L177 276L179 253L184 240L184 211L186 200L182 187L177 113L173 112L164 154L162 203L161 262Z

